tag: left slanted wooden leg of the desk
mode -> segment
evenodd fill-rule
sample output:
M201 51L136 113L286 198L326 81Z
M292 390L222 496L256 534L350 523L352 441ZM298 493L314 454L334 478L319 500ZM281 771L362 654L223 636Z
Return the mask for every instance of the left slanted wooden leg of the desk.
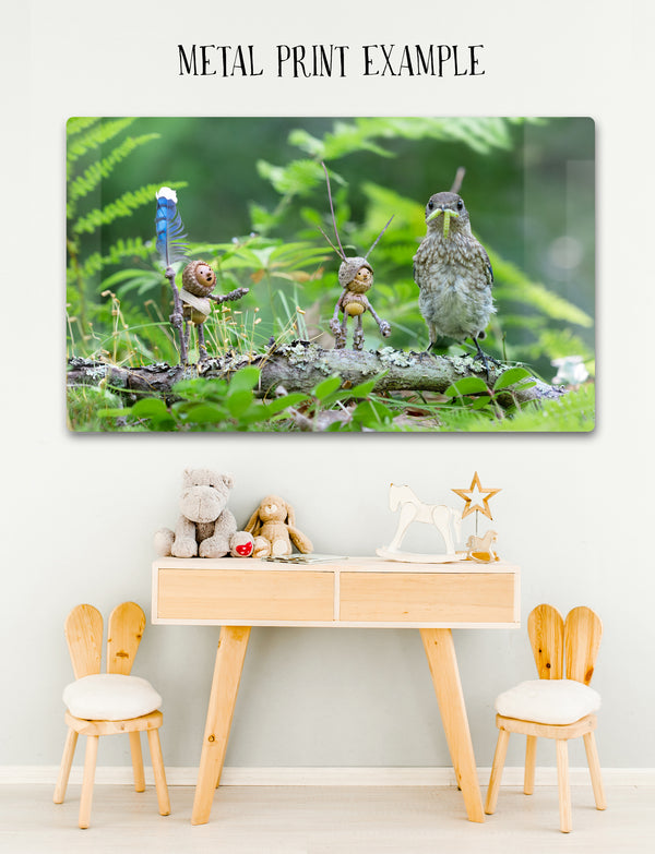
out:
M223 626L221 629L191 814L192 825L206 825L210 820L214 790L221 780L225 761L249 637L250 626Z

